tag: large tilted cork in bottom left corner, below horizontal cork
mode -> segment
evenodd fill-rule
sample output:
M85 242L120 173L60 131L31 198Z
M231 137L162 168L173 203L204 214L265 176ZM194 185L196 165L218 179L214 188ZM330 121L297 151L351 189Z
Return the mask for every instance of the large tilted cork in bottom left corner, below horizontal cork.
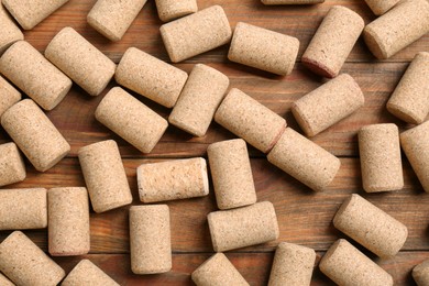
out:
M56 286L66 276L21 231L14 231L0 244L0 271L16 285Z

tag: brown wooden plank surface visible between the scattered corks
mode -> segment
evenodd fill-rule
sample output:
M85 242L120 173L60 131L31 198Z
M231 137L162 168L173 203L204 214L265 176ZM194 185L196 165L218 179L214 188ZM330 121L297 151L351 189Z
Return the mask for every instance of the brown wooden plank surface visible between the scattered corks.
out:
M158 32L162 22L157 18L154 1L146 3L119 43L109 42L86 23L86 15L95 2L96 0L70 0L33 31L25 32L25 38L43 52L51 38L61 29L69 25L117 63L130 46L168 61ZM298 37L300 41L298 59L323 15L332 6L341 4L356 11L364 18L365 23L375 19L363 0L327 0L323 4L301 7L265 7L258 0L199 0L198 4L200 9L212 4L222 6L232 28L237 22L243 21ZM381 122L394 122L402 130L409 128L391 116L385 109L385 103L408 63L420 51L429 51L428 35L393 58L383 62L375 61L362 40L353 48L342 72L351 74L358 80L365 95L365 106L350 118L312 139L341 158L341 169L327 191L314 193L267 163L262 153L250 148L257 198L260 201L270 200L275 205L280 229L278 241L227 253L227 256L251 285L267 283L274 249L280 241L315 249L319 261L332 242L344 238L333 228L331 221L344 198L354 193L364 196L408 227L408 240L403 251L394 258L378 260L369 252L365 251L365 253L393 275L396 285L414 284L410 276L411 268L429 258L429 196L424 193L405 156L403 190L365 194L361 183L356 132L363 125ZM205 63L221 70L230 77L231 87L237 87L252 96L285 117L292 128L299 130L290 113L290 105L320 86L323 79L308 72L300 63L296 64L293 74L288 77L273 76L231 63L227 59L227 53L228 46L223 46L177 66L189 73L195 64ZM109 88L113 86L114 82ZM135 178L135 168L139 165L179 157L207 156L206 148L210 143L234 138L216 123L210 127L207 135L200 139L169 127L154 151L143 155L95 120L95 109L106 92L98 97L90 97L74 86L64 101L48 112L51 120L70 143L70 154L43 174L35 172L28 163L29 174L25 182L10 186L10 188L85 186L76 158L77 151L81 146L113 139L120 145L132 187L133 205L139 205L141 202ZM134 96L164 118L168 117L170 110L139 95ZM10 141L4 131L1 131L0 141L1 143ZM174 252L172 272L146 276L131 273L129 208L127 207L101 215L91 213L91 251L85 257L99 265L121 285L191 285L189 274L213 252L206 220L207 213L217 209L212 189L210 191L210 195L205 198L168 202ZM9 233L1 232L0 240ZM46 251L46 230L25 231L25 233ZM363 250L361 246L359 249ZM82 257L56 257L55 261L69 272L80 258ZM332 282L316 267L312 285L330 284Z

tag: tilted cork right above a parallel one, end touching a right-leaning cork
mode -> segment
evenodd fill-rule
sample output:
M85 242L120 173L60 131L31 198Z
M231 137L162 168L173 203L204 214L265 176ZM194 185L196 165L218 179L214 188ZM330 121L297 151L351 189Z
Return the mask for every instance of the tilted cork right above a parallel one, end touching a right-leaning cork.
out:
M141 96L166 108L173 108L188 74L135 47L127 50L114 78Z

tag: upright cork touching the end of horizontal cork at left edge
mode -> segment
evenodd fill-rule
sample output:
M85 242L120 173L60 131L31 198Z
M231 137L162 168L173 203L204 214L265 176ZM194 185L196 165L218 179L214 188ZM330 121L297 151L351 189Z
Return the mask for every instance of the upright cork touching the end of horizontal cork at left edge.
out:
M89 201L86 188L52 188L47 191L47 242L53 256L89 252Z

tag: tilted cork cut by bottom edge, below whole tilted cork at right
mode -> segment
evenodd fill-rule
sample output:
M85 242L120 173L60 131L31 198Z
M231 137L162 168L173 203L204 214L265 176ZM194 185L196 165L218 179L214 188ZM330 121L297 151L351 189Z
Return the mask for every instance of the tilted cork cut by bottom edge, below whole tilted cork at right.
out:
M391 274L346 240L338 240L319 263L320 271L338 285L392 286Z

